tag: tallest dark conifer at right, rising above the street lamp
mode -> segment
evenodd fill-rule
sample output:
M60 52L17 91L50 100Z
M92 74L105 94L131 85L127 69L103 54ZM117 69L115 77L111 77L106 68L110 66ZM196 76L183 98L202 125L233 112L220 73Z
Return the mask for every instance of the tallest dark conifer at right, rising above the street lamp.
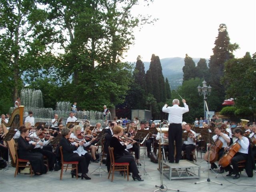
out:
M224 86L220 84L220 78L224 74L224 63L234 58L232 52L238 47L236 44L230 44L227 26L220 24L218 28L218 37L216 38L213 55L210 57L209 71L210 71L210 85L214 88L219 100L215 103L218 110L221 108L221 103L224 100L225 90Z

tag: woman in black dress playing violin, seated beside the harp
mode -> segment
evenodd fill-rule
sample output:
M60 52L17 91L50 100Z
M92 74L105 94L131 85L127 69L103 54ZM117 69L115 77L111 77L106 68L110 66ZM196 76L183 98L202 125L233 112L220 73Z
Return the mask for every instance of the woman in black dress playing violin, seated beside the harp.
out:
M36 146L36 142L29 143L25 138L28 137L28 129L25 126L20 126L20 137L18 138L18 155L21 159L27 159L30 161L32 169L35 175L42 175L46 172L44 167L43 155L39 152L33 152L32 150Z

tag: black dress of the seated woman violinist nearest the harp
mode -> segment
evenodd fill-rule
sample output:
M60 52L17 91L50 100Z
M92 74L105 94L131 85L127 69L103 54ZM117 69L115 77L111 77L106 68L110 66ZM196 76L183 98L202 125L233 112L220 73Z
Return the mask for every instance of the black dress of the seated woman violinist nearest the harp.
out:
M18 138L18 155L20 159L30 161L34 173L45 173L44 158L41 153L32 152L34 145L29 144L22 136Z

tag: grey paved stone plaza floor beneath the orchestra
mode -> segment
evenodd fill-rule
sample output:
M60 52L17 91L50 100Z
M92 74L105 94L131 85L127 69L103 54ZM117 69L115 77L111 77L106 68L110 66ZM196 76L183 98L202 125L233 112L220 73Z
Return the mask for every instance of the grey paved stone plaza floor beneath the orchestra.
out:
M256 191L256 174L254 177L248 178L245 172L242 172L239 179L234 180L232 177L227 177L226 173L219 174L215 178L215 174L210 171L210 180L214 182L220 182L223 185L214 184L212 182L203 182L200 184L194 184L207 180L208 178L208 164L202 160L198 153L196 164L201 166L200 179L178 179L169 180L164 176L163 184L168 188L178 189L181 192L249 192ZM141 158L143 162L143 158ZM99 163L90 163L89 172L91 173L98 168ZM106 170L106 166L102 166ZM42 176L32 176L26 174L18 174L14 178L15 168L9 167L8 170L0 170L0 192L152 192L157 188L155 185L160 185L160 172L158 171L158 164L150 162L149 158L145 158L145 173L144 167L140 167L140 174L142 174L143 182L132 180L132 177L124 179L123 176L116 173L114 181L110 182L107 179L108 174L103 172L101 177L97 173L88 174L92 180L76 180L71 178L70 171L63 174L62 180L60 180L60 171L48 172ZM254 185L254 186L250 186ZM166 190L162 190L166 191ZM169 191L169 190L168 190Z

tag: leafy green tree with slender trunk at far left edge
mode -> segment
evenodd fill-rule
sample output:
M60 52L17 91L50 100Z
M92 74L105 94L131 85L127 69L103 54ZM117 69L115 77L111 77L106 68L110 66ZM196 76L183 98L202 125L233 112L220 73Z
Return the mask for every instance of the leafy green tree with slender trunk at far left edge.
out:
M48 12L34 0L2 0L0 13L0 62L6 66L15 100L23 86L22 74L38 74L50 66L55 33L47 22Z

